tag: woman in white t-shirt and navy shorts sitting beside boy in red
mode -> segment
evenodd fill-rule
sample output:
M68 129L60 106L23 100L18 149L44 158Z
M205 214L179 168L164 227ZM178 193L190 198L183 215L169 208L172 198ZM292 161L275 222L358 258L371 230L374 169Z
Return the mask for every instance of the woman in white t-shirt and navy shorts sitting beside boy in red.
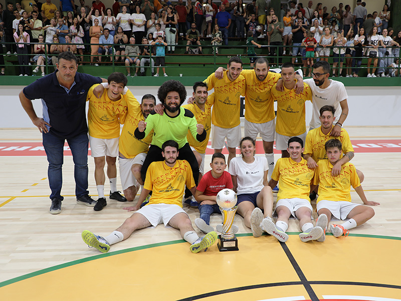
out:
M238 213L244 218L245 226L259 237L263 233L263 218L271 218L273 193L268 186L269 169L265 156L255 157L255 140L245 137L240 142L241 157L230 162L229 173L233 180L234 191L238 197ZM264 210L264 214L262 210Z

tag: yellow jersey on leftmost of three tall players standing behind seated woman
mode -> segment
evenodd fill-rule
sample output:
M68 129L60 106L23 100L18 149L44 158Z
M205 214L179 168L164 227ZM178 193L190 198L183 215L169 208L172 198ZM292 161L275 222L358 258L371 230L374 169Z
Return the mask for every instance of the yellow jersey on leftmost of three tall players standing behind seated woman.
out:
M208 91L215 89L215 104L212 111L212 123L223 128L232 128L240 124L240 96L245 95L245 78L241 74L231 81L224 72L223 79L217 79L212 73L205 80Z

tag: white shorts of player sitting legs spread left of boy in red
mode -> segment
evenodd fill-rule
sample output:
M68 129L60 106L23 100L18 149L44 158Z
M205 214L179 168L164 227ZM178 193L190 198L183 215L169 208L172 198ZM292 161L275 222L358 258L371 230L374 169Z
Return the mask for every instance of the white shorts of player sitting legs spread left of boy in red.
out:
M174 215L181 212L188 215L181 207L175 204L150 204L143 206L134 214L142 214L154 227L161 223L165 227Z

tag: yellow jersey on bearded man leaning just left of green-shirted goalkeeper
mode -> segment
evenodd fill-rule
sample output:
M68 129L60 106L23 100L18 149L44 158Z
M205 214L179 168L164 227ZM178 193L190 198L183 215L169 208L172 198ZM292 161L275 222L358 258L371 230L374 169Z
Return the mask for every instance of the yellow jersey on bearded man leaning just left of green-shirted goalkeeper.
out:
M128 113L125 118L124 126L121 130L118 148L125 158L134 158L140 153L147 153L149 144L152 142L153 130L142 140L135 138L134 131L138 127L138 122L145 117L142 114L141 106L131 91L128 90L125 95L127 97Z

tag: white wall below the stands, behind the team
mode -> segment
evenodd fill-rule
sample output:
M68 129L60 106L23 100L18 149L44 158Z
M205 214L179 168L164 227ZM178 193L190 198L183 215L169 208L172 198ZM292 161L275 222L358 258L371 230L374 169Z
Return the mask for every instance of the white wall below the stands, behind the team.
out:
M31 120L21 106L18 94L24 86L0 86L0 107L5 112L0 118L0 128L33 127ZM136 99L144 94L156 96L157 88L129 87ZM186 87L187 95L192 95L192 87ZM346 87L348 93L349 116L344 125L401 125L401 96L399 87ZM42 116L42 103L34 100L38 116ZM306 106L306 124L311 118L311 104Z

